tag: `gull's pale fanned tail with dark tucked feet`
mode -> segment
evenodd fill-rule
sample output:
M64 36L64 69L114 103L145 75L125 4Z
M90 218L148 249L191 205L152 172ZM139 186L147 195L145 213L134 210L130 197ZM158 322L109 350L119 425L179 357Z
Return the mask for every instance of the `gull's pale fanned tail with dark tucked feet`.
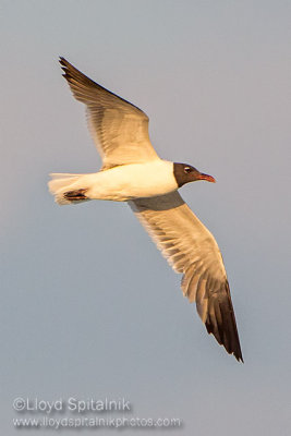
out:
M51 173L48 182L49 192L54 195L54 201L59 205L83 203L88 201L86 189L78 183L84 174Z

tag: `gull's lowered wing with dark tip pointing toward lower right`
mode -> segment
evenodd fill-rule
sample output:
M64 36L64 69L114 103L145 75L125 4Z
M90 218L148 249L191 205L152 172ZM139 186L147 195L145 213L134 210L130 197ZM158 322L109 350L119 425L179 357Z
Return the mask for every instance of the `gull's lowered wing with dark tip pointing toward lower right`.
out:
M213 234L178 192L129 203L172 268L183 274L182 291L196 302L207 331L243 361L227 272Z

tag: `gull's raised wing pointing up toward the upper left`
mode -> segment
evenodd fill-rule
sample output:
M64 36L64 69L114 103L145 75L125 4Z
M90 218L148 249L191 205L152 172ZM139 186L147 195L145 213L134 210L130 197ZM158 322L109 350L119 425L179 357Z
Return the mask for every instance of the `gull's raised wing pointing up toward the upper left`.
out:
M102 169L158 159L148 136L148 117L105 89L60 58L74 97L86 105L88 126L102 158Z

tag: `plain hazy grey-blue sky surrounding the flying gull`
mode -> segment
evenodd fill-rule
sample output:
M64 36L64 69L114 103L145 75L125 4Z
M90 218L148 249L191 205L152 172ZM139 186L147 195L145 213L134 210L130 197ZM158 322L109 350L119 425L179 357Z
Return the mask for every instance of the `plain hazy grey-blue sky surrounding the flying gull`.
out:
M0 15L1 434L53 433L14 429L15 397L107 396L180 417L174 436L290 435L290 1L1 0ZM221 249L244 364L126 204L53 203L49 172L100 166L59 56L141 107L161 157L217 179L181 194Z

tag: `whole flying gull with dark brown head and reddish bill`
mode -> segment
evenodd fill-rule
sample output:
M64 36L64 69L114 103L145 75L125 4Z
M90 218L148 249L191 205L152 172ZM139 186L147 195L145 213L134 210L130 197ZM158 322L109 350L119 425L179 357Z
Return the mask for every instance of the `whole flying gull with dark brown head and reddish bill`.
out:
M49 190L60 205L89 199L128 202L181 288L227 352L243 362L227 272L213 234L178 192L211 175L187 164L160 159L148 136L148 117L136 106L93 82L64 58L63 76L74 97L86 105L88 126L102 159L94 174L52 173Z

